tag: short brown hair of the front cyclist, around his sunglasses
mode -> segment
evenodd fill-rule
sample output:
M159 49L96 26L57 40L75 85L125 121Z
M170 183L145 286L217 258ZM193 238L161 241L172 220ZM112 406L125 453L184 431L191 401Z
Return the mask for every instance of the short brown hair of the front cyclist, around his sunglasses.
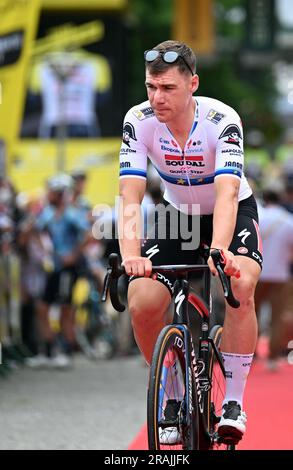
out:
M183 42L168 40L161 42L157 46L153 47L153 49L155 51L160 52L178 52L184 57L185 61L190 66L190 69L193 71L193 73L196 73L196 56L193 50ZM164 62L163 57L159 55L153 62L146 62L146 68L152 75L159 75L160 73L165 72L171 67L177 67L181 73L190 73L190 70L188 69L184 60L180 60L180 58L176 62L169 64L167 62Z

